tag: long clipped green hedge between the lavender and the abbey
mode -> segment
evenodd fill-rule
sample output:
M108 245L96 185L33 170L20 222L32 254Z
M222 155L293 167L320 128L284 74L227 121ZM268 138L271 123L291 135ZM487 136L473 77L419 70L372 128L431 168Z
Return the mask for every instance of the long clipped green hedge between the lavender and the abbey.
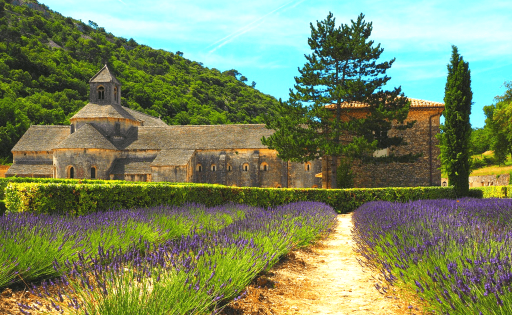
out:
M169 183L16 183L6 188L8 212L82 215L111 208L197 202L214 206L228 202L274 206L294 201L322 201L338 213L348 213L372 200L408 201L455 198L451 187L254 188Z

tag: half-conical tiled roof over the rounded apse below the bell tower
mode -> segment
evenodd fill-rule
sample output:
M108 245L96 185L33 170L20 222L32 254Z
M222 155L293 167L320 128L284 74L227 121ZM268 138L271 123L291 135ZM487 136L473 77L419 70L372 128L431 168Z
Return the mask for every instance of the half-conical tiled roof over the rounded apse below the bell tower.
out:
M102 135L93 125L87 123L71 134L54 149L106 149L118 150L112 142Z

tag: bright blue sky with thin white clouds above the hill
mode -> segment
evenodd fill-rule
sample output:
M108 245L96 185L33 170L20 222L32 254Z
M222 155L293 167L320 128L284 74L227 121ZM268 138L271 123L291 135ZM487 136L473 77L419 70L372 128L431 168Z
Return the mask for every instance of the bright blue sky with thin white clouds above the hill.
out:
M106 31L137 43L236 69L256 88L288 98L297 67L306 61L310 23L334 14L349 24L359 13L373 22L371 39L384 48L381 61L396 58L388 89L408 97L443 101L446 65L455 45L469 62L473 127L483 127L482 108L512 80L512 1L451 0L259 0L141 1L46 0L62 15L93 20Z

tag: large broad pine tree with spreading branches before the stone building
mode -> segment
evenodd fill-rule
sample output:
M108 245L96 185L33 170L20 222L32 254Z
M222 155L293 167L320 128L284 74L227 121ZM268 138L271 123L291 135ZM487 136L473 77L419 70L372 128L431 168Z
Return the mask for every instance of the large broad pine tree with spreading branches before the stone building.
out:
M369 40L372 23L364 18L361 13L350 25L336 27L329 13L316 27L311 23L312 53L298 69L301 76L295 77L289 101L281 102L279 115L266 121L275 133L262 139L283 160L329 157L326 181L331 188L337 187L339 156L372 158L376 149L403 144L401 137L388 137L392 127L412 126L404 124L409 102L400 88L382 90L395 59L377 62L383 49ZM346 106L354 102L365 103L367 114Z

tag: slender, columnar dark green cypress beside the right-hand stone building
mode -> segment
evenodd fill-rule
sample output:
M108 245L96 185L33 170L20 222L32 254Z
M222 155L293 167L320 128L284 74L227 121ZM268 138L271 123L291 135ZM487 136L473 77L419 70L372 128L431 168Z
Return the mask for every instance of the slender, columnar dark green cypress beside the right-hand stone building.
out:
M444 88L444 125L441 141L441 165L454 186L457 197L469 194L471 137L471 75L467 62L452 46Z

